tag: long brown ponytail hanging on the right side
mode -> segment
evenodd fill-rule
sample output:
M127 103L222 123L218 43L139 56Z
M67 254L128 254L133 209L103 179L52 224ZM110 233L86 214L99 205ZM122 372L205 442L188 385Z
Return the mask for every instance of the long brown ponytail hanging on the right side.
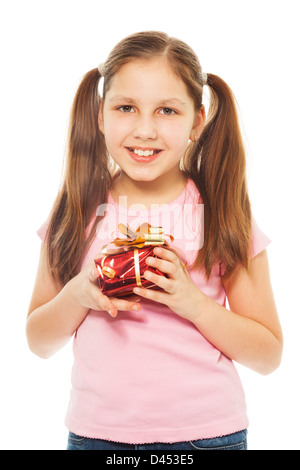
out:
M207 76L207 85L207 123L187 155L189 176L204 203L204 245L195 266L204 266L209 277L213 265L221 261L227 279L238 265L249 268L251 208L246 157L231 89L212 74Z

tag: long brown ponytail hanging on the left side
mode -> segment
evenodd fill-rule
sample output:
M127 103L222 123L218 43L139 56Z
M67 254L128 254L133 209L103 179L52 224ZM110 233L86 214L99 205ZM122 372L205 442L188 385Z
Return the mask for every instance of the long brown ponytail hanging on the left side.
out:
M50 270L62 285L80 269L83 254L95 234L86 229L110 186L108 153L98 127L101 75L98 69L83 78L71 110L63 184L54 203L47 232Z

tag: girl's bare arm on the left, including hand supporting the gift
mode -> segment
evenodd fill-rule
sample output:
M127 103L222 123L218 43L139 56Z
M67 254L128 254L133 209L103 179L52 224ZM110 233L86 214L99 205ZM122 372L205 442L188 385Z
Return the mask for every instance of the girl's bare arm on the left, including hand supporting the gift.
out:
M90 309L106 310L115 317L119 310L138 310L129 300L109 299L97 285L94 260L64 287L49 272L46 246L42 244L36 281L29 305L26 334L32 352L47 358L73 336Z

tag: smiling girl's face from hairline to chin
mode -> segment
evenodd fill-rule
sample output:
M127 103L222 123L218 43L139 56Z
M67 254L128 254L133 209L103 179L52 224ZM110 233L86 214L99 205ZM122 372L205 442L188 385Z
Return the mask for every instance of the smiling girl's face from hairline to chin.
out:
M204 111L195 113L185 84L162 58L121 67L99 113L108 151L132 181L174 182L203 125Z

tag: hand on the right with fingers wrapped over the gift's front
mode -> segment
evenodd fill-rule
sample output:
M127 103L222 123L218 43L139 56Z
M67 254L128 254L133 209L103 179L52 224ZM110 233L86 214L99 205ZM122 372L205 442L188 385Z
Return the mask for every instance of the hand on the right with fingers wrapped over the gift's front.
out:
M173 251L157 247L154 249L154 254L158 258L149 256L146 263L167 274L168 278L151 271L145 271L144 277L162 288L163 292L135 287L134 293L165 304L181 317L193 321L199 312L199 305L204 294L192 281L181 259Z

